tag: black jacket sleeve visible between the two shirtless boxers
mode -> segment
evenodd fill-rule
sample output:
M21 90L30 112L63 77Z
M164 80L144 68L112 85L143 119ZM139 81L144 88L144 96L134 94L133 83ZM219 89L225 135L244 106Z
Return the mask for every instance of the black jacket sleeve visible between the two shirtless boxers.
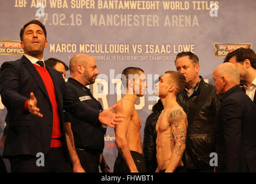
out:
M157 145L155 142L157 140L157 131L155 131L155 125L162 109L164 107L159 99L157 104L153 106L153 113L147 117L144 128L143 154L148 173L154 173L157 169Z

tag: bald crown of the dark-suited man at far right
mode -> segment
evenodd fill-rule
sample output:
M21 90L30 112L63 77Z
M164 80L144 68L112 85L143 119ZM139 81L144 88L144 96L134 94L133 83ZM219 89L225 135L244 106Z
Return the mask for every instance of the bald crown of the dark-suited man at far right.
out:
M239 85L240 83L240 74L238 68L233 63L222 63L216 67L214 70L217 76L225 76L229 83L232 85ZM213 72L214 72L213 71Z

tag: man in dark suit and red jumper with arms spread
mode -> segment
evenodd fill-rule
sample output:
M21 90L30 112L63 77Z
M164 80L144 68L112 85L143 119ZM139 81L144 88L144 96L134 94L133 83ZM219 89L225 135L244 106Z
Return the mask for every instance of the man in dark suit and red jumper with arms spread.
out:
M1 66L0 93L9 118L3 157L10 158L13 172L72 172L71 163L79 172L66 150L64 109L110 127L123 118L111 112L116 106L100 113L77 101L61 73L44 65L46 37L40 21L28 22L20 30L24 56Z

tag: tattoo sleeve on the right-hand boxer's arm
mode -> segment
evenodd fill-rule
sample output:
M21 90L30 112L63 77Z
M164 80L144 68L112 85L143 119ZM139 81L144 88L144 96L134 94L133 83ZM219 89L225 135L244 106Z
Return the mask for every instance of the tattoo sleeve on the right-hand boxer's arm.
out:
M181 110L173 110L169 119L172 126L172 136L175 139L174 151L177 155L182 156L187 133L187 117Z

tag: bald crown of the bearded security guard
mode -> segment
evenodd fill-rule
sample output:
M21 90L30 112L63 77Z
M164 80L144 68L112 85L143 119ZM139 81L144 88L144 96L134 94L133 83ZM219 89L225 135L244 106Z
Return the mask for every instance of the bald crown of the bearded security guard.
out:
M77 53L71 58L71 61L69 62L69 70L71 74L74 74L76 72L77 65L81 65L86 67L87 63L91 60L94 60L94 57L86 54L86 53Z

